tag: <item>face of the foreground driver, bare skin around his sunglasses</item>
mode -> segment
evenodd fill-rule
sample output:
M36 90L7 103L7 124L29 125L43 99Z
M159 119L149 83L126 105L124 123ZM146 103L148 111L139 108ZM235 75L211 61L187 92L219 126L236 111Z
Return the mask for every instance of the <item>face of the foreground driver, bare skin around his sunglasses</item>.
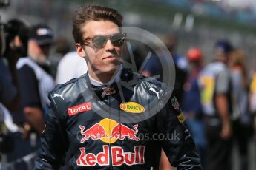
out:
M82 28L83 39L95 35L114 35L119 33L119 27L111 21L88 21ZM79 56L85 57L88 64L88 72L102 73L114 72L119 66L122 47L115 47L110 39L105 47L93 47L90 40L87 44L76 44Z

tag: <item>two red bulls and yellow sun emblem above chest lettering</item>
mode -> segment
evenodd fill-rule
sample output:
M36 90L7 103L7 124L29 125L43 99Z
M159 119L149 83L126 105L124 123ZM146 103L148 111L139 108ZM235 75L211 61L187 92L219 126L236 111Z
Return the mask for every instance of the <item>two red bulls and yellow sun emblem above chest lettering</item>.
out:
M80 125L80 133L82 138L79 139L80 143L84 143L86 140L102 140L105 143L114 143L116 140L124 140L127 137L130 140L139 141L139 137L136 136L138 132L138 124L135 124L133 128L117 123L112 119L102 119L99 123L94 124L89 129L85 130L85 126Z

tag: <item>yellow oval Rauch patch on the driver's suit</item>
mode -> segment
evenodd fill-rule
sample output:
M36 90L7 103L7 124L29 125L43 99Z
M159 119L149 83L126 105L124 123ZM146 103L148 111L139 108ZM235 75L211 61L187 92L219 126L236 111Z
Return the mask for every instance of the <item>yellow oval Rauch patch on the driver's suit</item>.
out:
M120 109L122 109L125 112L130 113L142 113L145 112L145 108L141 106L139 103L129 101L127 103L121 103Z

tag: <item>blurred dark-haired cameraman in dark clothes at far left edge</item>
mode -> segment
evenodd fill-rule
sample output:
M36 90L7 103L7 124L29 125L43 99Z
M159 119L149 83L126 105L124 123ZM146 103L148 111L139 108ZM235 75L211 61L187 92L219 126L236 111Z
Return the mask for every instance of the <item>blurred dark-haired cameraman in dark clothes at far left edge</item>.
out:
M27 136L27 139L24 139L24 134L28 130L27 121L24 115L18 112L21 100L19 100L20 90L18 88L19 81L16 76L16 62L19 58L27 56L29 31L30 29L23 21L13 19L4 24L4 33L1 33L2 40L4 40L2 42L5 42L2 43L1 47L6 47L3 55L1 55L0 69L5 71L0 72L0 75L2 75L0 82L1 87L3 87L0 88L0 96L4 99L1 102L9 109L14 123L19 126L19 131L17 129L16 131L9 130L7 133L9 141L4 141L4 144L1 143L2 150L0 152L7 154L7 163L2 162L3 168L13 166L15 169L29 169L32 166L33 160L31 158L29 160L22 158L27 155L34 155L34 151L36 151L36 146L33 146L33 136L30 135L30 137ZM10 143L13 143L13 145L10 145ZM9 149L6 149L7 146Z

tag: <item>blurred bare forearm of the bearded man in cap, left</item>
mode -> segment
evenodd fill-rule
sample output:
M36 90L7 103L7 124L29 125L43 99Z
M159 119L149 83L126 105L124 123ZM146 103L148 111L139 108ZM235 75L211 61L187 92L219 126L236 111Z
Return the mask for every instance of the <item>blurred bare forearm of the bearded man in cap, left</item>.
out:
M45 129L45 118L42 110L37 107L25 107L23 112L27 123L41 135ZM26 131L26 129L24 130Z

